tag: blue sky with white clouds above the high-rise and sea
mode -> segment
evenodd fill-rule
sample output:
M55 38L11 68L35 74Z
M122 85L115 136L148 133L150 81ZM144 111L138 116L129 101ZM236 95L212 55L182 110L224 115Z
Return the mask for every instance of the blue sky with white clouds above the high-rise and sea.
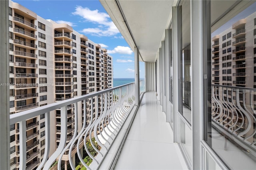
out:
M44 19L67 23L80 34L108 49L114 78L134 77L134 53L98 0L13 0ZM140 62L144 78L144 63Z

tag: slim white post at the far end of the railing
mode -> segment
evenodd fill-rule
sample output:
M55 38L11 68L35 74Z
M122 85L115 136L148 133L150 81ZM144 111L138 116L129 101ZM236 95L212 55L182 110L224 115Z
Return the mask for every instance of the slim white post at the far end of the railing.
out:
M135 73L135 105L138 106L140 102L140 65L139 65L139 51L134 48L134 73Z

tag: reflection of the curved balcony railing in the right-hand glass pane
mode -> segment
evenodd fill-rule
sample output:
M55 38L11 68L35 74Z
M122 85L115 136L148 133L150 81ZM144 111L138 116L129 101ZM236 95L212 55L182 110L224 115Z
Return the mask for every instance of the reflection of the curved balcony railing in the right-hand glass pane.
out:
M256 89L212 85L212 128L256 159Z

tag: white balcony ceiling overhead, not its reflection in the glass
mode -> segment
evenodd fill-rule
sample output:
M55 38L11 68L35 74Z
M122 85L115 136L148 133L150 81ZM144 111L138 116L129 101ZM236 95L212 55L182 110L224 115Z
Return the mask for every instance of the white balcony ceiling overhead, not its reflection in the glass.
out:
M160 42L164 38L164 30L169 27L174 1L100 0L100 2L132 50L135 46L138 47L140 60L155 62Z

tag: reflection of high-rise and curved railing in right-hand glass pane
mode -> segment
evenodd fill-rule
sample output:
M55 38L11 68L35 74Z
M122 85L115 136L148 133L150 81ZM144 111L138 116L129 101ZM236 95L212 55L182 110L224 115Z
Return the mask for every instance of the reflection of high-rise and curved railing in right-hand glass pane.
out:
M212 148L222 154L228 165L243 158L248 167L252 167L256 160L255 16L256 12L240 20L233 18L229 28L218 35L212 34L210 137ZM241 156L234 158L232 154L237 153ZM245 155L251 159L244 159ZM228 157L232 160L228 160Z

